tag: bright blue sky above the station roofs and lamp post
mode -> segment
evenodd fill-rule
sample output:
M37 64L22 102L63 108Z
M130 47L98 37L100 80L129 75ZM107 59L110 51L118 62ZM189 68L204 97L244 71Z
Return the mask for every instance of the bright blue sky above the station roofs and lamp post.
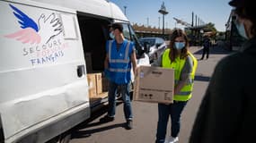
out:
M230 0L110 0L119 5L125 12L131 23L139 25L147 24L151 27L163 28L163 15L158 13L164 2L166 11L164 16L164 28L184 28L177 24L173 17L191 23L192 12L194 16L205 23L212 22L219 31L225 31L225 23L228 20L232 7L228 4ZM160 17L160 23L159 23ZM195 24L195 17L194 17Z

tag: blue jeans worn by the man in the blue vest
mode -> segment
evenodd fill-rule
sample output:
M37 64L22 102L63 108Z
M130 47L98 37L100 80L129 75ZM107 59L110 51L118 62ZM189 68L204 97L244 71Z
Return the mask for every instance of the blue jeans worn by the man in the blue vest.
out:
M109 86L109 112L108 115L110 117L114 117L116 114L116 96L117 96L117 89L120 89L120 94L124 101L124 113L126 120L132 120L132 110L131 110L131 102L130 102L130 95L129 95L129 84L122 84L118 85L114 82L110 81Z

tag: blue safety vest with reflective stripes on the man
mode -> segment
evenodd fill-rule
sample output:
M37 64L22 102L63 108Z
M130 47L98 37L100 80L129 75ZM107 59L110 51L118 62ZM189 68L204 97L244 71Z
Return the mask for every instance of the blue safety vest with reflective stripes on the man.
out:
M133 43L125 39L118 51L117 41L109 40L107 51L109 54L110 81L117 84L128 84L131 80L130 55L133 46Z

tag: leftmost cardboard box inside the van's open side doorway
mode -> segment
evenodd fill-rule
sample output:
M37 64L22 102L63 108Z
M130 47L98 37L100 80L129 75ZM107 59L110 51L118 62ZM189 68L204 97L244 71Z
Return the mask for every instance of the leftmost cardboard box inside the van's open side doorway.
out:
M89 86L89 97L96 97L96 78L94 73L87 73L87 80Z

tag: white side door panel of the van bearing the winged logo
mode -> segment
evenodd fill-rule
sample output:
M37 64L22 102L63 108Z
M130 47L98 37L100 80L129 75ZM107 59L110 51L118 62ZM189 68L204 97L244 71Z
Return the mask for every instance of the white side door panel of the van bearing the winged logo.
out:
M0 114L5 141L13 142L85 109L89 112L86 73L78 75L85 63L75 13L4 1L0 9L4 20L0 22ZM71 128L86 119L78 117L64 126ZM52 136L64 130L57 131Z

